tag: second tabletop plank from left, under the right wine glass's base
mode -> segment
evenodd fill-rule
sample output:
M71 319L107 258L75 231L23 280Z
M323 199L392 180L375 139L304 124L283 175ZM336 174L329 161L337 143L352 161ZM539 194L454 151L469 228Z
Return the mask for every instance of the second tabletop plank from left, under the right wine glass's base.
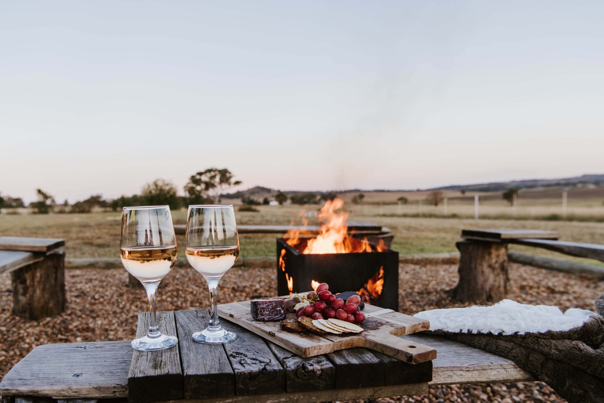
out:
M205 399L233 396L235 375L222 344L202 344L193 341L194 332L210 323L207 309L177 311L176 332L182 361L185 399Z

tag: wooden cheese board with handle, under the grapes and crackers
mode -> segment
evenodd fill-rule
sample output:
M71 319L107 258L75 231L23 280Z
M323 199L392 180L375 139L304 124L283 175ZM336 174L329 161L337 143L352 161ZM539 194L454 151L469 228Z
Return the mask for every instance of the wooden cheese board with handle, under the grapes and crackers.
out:
M286 298L286 297L281 297ZM317 335L311 332L289 333L281 329L280 321L261 322L252 319L249 301L218 305L218 315L255 334L278 344L302 357L310 357L351 347L365 347L405 361L419 364L436 358L436 350L419 343L411 343L399 336L430 328L429 321L365 304L365 321L361 333ZM295 318L295 314L288 314Z

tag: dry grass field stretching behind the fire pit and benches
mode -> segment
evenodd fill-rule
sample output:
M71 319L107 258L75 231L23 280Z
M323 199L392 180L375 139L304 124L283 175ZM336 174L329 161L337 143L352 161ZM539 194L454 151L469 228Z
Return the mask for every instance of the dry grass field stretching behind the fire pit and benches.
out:
M352 206L351 219L372 221L390 228L394 233L393 249L401 254L441 253L455 251L455 242L462 228L532 228L556 230L561 239L575 242L604 243L604 225L597 222L539 221L532 219L470 219L470 218L422 218L388 216L379 206ZM385 206L384 206L385 207ZM382 207L382 210L384 210ZM397 206L389 206L396 208ZM316 209L316 205L307 207ZM259 213L237 211L238 224L289 224L300 222L300 207L260 206ZM315 222L313 222L315 220ZM175 224L185 224L186 210L173 211ZM309 218L315 224L316 218ZM120 214L2 214L1 236L59 237L66 240L68 257L117 257L120 244ZM241 256L274 256L274 234L243 234L240 236ZM178 236L184 254L184 236ZM595 265L604 263L579 259L535 248L510 246L510 250L556 257Z

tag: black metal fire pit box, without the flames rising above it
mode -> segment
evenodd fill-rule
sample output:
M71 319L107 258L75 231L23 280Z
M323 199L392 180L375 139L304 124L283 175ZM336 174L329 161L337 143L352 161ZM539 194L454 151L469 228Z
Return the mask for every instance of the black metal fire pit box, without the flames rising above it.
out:
M398 310L398 252L387 249L382 252L303 254L301 250L306 242L307 239L300 239L300 243L291 247L285 239L277 238L278 295L310 291L312 280L315 280L329 284L329 291L334 294L360 291L365 302ZM380 284L381 292L378 292Z

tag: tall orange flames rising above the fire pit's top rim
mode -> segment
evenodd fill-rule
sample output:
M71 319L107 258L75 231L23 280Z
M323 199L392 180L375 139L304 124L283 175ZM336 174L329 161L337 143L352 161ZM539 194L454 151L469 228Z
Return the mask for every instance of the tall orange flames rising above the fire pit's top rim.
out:
M306 247L302 250L300 245L299 250L303 254L326 254L326 253L360 253L360 252L382 252L387 250L384 245L384 240L380 240L377 247L372 248L367 237L359 241L349 236L348 225L346 221L350 215L342 210L344 201L339 198L328 200L318 214L318 219L321 222L319 234L315 238L310 238L306 243ZM304 211L301 211L300 216L304 219L304 227L307 221L304 218ZM294 222L292 221L292 225ZM300 243L300 234L302 230L289 230L285 234L286 242L291 247L296 247Z

